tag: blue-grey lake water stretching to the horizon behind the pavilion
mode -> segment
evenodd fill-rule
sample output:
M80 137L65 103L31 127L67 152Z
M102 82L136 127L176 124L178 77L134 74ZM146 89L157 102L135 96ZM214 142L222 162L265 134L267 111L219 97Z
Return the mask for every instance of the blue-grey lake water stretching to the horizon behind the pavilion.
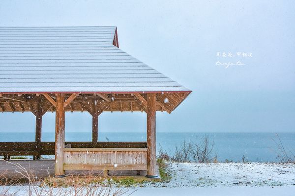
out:
M214 141L214 152L218 161L225 159L241 161L243 155L249 161L265 162L276 161L277 146L273 140L278 141L275 133L157 133L157 149L159 145L167 151L174 152L175 146L183 140L194 141L196 137L206 135ZM279 137L287 150L295 152L295 133L280 133ZM33 132L0 132L0 142L34 141ZM54 132L43 132L42 141L54 141ZM99 141L146 141L146 133L134 132L99 132ZM66 141L91 141L91 132L66 132ZM214 153L214 154L215 154Z

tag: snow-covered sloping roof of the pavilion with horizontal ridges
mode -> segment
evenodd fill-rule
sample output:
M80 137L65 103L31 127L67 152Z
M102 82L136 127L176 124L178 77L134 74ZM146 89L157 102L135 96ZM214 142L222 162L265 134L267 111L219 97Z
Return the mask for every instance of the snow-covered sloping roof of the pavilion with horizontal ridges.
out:
M0 27L0 93L190 91L116 37L116 26Z

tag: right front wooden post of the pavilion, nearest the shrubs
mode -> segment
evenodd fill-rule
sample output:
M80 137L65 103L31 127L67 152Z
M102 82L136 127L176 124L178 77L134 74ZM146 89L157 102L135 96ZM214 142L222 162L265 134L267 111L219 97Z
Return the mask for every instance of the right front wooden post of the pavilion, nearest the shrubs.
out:
M156 94L148 93L147 107L147 177L157 177L156 175Z

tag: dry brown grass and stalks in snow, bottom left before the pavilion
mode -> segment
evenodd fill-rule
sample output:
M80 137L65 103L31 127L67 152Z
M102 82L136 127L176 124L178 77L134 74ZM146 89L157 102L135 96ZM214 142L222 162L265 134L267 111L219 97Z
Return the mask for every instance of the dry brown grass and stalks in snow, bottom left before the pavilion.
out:
M48 173L48 178L38 179L20 164L9 163L18 168L16 172L22 177L9 180L5 177L5 173L2 173L0 196L15 196L19 192L28 196L130 196L134 192L130 192L125 186L109 183L109 180L93 172L71 174L65 178L51 177ZM14 191L12 187L24 179L27 182L25 188Z

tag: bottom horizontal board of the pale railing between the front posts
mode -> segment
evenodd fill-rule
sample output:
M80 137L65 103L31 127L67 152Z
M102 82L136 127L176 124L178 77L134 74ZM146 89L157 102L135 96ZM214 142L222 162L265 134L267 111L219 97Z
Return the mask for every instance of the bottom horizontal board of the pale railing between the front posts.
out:
M64 170L147 170L147 164L64 164Z

